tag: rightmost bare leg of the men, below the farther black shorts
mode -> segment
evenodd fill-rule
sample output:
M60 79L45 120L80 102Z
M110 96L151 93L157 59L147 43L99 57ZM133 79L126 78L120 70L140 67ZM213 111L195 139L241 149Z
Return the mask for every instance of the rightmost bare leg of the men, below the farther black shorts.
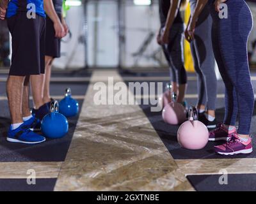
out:
M52 69L53 58L45 56L45 78L44 78L44 90L43 90L43 101L48 103L51 101L50 95L50 82L51 82L51 69Z

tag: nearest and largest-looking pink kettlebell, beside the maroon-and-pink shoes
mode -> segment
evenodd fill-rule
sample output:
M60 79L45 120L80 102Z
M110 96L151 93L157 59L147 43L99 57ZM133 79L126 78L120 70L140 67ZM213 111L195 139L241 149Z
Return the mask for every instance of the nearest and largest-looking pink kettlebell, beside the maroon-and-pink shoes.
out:
M209 139L209 131L198 120L198 112L195 107L189 108L189 120L184 122L177 133L180 146L185 149L203 149Z

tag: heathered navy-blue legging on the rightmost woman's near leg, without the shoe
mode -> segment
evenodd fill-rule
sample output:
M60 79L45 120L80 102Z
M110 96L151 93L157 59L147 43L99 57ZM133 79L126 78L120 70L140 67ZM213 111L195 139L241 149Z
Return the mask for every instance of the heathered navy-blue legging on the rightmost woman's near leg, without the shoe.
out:
M249 136L254 94L248 66L247 43L252 30L252 14L244 1L234 0L228 1L228 17L220 22L220 50L228 77L236 92L239 115L237 133Z

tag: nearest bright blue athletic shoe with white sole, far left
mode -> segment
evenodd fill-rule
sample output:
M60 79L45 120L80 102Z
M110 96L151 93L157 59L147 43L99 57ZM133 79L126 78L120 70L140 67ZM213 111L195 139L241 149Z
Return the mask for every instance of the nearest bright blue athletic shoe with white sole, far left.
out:
M45 137L28 129L24 124L17 129L9 129L6 140L8 142L37 144L45 142Z

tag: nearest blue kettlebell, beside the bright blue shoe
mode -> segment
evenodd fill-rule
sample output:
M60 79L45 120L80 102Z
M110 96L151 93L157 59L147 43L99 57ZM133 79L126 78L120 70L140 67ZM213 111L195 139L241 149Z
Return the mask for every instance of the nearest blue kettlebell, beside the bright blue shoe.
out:
M58 109L58 101L52 101L51 113L42 120L41 130L47 138L62 138L68 132L68 120Z

